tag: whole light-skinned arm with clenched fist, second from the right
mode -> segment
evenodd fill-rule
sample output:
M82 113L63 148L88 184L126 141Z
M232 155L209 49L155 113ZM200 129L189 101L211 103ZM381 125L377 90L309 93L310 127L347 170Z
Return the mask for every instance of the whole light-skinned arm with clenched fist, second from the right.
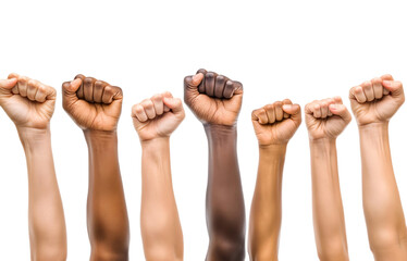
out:
M305 109L311 151L313 231L321 261L349 260L337 170L336 137L351 116L340 97Z

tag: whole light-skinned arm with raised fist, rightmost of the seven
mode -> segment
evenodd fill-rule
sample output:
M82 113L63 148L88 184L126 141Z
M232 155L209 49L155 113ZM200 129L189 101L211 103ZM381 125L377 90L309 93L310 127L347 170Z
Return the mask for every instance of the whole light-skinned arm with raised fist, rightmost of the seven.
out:
M404 103L403 85L383 75L349 91L359 126L363 211L378 261L407 260L407 229L388 145L388 121Z

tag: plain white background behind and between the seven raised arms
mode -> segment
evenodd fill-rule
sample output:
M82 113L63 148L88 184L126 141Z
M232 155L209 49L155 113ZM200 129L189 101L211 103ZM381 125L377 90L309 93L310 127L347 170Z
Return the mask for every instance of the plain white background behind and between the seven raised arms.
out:
M183 96L183 77L205 67L244 84L238 157L250 209L258 150L250 112L284 98L304 105L342 96L391 73L407 83L405 1L1 1L0 77L11 72L53 86L52 147L69 237L69 260L87 260L87 147L61 105L61 84L76 74L124 90L119 149L131 220L131 260L144 260L139 233L140 147L131 107L157 92ZM173 134L172 173L185 260L203 260L207 141L190 111ZM407 209L407 105L391 123L393 163ZM28 260L25 157L0 112L0 260ZM372 260L361 202L355 121L337 140L349 254ZM248 260L248 258L247 258ZM284 170L280 260L317 260L305 124L291 140Z

